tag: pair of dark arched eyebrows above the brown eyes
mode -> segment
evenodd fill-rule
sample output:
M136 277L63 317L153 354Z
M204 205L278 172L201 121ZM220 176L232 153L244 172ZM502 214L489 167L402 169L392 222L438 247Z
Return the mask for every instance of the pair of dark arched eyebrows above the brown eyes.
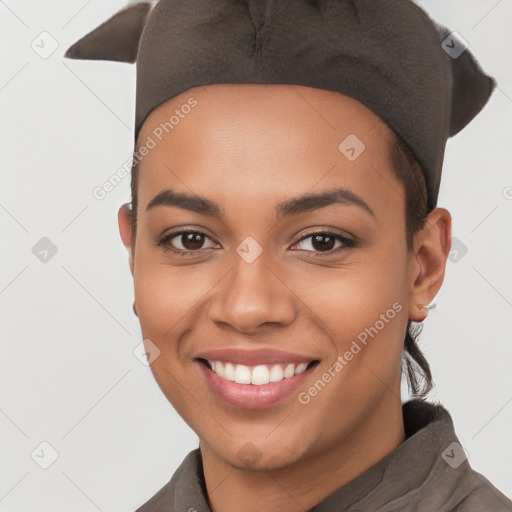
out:
M333 204L358 206L375 218L374 211L361 197L346 188L336 187L319 193L293 197L279 203L276 207L277 219L319 210ZM156 195L147 205L146 211L152 210L157 206L174 206L216 219L222 219L223 217L222 209L215 201L198 195L174 192L170 189L163 190Z

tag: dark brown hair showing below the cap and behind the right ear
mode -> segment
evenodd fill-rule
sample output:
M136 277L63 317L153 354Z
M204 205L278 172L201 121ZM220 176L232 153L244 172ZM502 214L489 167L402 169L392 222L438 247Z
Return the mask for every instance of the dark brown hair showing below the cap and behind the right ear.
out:
M427 211L427 188L421 165L409 146L394 132L390 143L391 164L398 180L405 188L405 219L407 249L413 249L414 234L425 226ZM132 249L137 231L137 197L139 160L134 159L131 172L131 224ZM424 399L433 387L430 365L418 346L422 325L407 323L402 352L402 372L406 374L409 391L416 398Z

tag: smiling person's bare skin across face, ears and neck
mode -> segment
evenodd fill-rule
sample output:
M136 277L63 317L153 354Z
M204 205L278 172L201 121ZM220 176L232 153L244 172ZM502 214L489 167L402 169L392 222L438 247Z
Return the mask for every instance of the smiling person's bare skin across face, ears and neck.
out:
M443 208L432 211L407 251L391 132L367 107L333 91L275 84L190 89L151 113L139 141L191 96L198 105L141 162L135 240L128 208L119 210L142 334L160 350L151 369L199 436L214 512L308 510L405 439L400 361L407 319L423 321L428 310L417 305L429 304L442 285L451 217ZM349 134L366 146L355 161L338 150ZM280 202L334 186L357 194L374 216L338 203L276 217ZM217 202L222 220L173 206L146 211L166 189ZM179 256L155 244L183 227L205 233L203 245L178 236L167 246L204 247L199 254ZM358 245L325 248L305 238L322 229ZM263 249L250 264L236 252L248 236ZM298 393L394 303L401 311L300 403ZM319 364L280 403L241 409L209 388L194 360L224 347L278 348ZM240 450L255 455L250 467Z

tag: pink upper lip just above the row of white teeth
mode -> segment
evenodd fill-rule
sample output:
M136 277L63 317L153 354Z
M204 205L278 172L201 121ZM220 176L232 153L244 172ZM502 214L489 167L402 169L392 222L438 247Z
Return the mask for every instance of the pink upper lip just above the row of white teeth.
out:
M277 349L254 349L243 350L234 348L220 348L207 350L197 354L196 359L207 359L209 361L222 361L226 363L243 364L254 366L258 364L287 364L287 363L310 363L315 361L314 357L294 354Z

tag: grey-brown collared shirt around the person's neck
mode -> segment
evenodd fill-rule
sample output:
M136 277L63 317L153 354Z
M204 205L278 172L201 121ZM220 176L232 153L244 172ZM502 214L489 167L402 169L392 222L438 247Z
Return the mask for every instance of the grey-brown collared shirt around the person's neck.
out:
M444 407L412 400L402 409L406 440L311 512L512 511L512 501L471 468ZM200 450L136 512L211 512Z

